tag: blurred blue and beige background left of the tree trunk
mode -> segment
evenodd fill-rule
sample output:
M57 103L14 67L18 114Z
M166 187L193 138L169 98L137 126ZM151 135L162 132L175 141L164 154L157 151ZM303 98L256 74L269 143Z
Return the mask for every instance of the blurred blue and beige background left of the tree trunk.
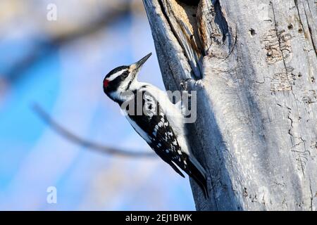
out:
M194 210L188 178L159 158L89 150L32 108L89 141L151 153L102 90L108 71L149 52L139 79L163 89L142 0L0 1L0 210Z

